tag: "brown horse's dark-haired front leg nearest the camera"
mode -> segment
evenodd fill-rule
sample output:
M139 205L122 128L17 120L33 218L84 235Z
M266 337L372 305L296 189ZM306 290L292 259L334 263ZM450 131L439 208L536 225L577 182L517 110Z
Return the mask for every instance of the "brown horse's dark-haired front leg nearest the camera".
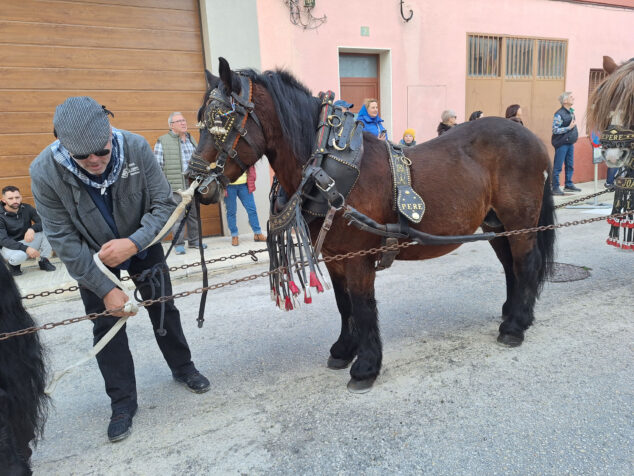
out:
M348 292L352 303L353 335L358 336L357 359L350 368L348 390L368 392L383 360L379 320L374 298L376 270L373 257L359 257L344 264Z

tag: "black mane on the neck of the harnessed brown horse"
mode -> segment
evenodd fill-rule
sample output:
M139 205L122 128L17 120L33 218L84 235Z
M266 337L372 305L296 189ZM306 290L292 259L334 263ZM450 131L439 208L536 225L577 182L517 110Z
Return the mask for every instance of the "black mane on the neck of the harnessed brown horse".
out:
M257 73L246 69L239 73L262 85L271 94L282 133L297 159L305 163L315 147L319 99L288 71ZM255 112L257 114L258 111Z

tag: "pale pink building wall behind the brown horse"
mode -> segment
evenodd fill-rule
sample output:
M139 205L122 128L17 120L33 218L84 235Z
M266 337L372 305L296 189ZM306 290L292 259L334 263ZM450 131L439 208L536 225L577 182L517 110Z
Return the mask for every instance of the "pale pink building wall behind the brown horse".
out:
M420 141L436 135L443 109L465 120L467 32L567 39L566 89L575 92L577 111L586 108L588 72L601 67L602 55L620 62L634 54L631 9L551 0L409 0L410 8L414 16L405 23L396 0L316 0L314 15L327 21L303 30L291 24L283 1L258 0L262 69L287 68L315 94L338 91L338 48L390 50L388 128L396 139L413 127ZM360 35L361 26L370 28L369 37ZM559 106L552 102L554 112Z

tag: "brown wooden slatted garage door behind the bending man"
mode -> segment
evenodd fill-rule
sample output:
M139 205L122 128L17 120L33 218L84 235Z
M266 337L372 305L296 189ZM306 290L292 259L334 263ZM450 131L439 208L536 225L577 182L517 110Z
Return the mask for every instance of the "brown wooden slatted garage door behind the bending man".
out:
M203 72L196 0L2 0L0 188L33 203L29 165L68 96L92 96L152 147L173 111L198 138ZM220 234L219 207L203 209L203 233Z

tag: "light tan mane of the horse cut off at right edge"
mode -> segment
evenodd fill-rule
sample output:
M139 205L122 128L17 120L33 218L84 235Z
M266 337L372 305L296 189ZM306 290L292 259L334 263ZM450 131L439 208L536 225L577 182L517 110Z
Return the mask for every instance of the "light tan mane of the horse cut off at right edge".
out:
M593 131L603 131L612 123L615 111L621 111L623 126L634 124L634 58L606 77L588 101L587 123Z

